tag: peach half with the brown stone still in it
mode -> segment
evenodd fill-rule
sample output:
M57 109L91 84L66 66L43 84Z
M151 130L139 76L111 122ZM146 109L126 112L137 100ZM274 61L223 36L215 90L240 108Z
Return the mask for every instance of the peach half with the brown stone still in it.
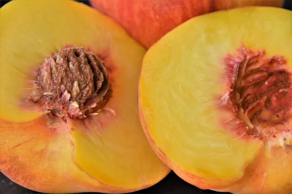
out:
M142 46L72 0L0 11L3 174L44 193L125 193L169 173L139 121Z

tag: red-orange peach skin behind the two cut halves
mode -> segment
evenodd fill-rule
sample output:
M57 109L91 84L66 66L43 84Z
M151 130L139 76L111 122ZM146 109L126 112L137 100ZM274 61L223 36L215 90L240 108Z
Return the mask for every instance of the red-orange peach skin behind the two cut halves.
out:
M284 0L90 0L146 49L188 19L243 6L282 7Z

